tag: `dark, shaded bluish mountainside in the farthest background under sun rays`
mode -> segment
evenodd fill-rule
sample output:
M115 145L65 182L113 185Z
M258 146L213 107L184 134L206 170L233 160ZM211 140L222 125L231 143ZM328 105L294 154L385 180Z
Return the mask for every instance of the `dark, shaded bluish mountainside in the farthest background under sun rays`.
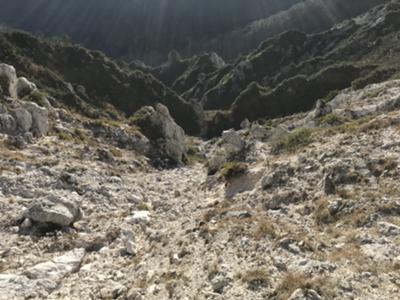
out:
M301 0L0 0L0 23L74 42L116 57L160 63L177 49L268 17Z

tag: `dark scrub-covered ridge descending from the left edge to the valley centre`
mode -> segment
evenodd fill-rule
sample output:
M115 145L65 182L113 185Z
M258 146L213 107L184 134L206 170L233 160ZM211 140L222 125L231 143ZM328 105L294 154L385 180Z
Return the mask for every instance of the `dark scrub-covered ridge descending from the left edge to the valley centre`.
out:
M31 78L55 102L81 113L127 117L146 105L164 103L189 134L201 131L201 108L187 103L155 77L120 68L99 51L49 42L25 32L0 32L0 62Z

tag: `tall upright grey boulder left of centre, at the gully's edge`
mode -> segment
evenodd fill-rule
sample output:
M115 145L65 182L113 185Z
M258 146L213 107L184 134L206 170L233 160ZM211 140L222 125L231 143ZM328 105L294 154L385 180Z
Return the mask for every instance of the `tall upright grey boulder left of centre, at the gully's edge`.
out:
M132 118L132 123L150 140L156 164L182 165L186 162L185 132L175 123L162 104L145 106Z

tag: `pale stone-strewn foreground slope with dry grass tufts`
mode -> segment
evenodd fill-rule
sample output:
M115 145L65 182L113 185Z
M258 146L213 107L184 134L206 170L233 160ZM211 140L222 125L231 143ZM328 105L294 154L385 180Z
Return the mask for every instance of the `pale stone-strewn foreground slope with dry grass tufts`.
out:
M49 135L2 135L0 298L395 299L399 99L399 81L340 91L189 139L162 171L104 134L128 125L48 106ZM2 103L4 126L20 100Z

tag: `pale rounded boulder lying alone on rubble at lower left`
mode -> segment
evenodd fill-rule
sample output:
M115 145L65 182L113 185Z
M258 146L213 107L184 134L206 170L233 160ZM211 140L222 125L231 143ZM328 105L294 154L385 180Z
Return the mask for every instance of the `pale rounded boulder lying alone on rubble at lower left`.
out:
M82 218L82 211L75 201L50 195L36 200L24 217L37 223L69 226Z

